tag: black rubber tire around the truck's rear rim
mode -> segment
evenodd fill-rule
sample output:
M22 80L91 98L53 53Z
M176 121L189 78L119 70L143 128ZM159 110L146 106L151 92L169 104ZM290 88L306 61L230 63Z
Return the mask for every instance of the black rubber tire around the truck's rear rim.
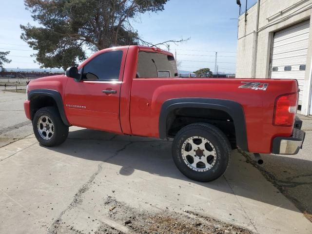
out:
M195 139L192 139L194 137ZM213 162L211 164L203 164L202 162L198 162L200 164L196 163L196 164L193 164L192 166L190 165L192 163L192 158L193 158L193 163L195 160L194 158L199 158L197 156L197 151L193 153L195 154L195 156L191 156L191 157L183 156L183 155L186 155L184 149L186 149L186 147L188 148L191 147L192 150L190 150L190 152L195 151L195 149L193 149L194 140L196 139L201 140L201 138L199 137L202 137L203 139L207 140L207 143L205 144L206 151L201 151L201 152L204 152L203 154L205 154L205 152L208 152L207 147L208 148L210 147L209 151L212 150L211 152L213 152L215 156L209 155L209 156L203 157L202 161L206 160L204 161L204 163L209 163L208 161L208 157L209 157L210 158L209 160ZM189 143L185 143L185 142L190 142L190 140L192 141L191 146L190 145L187 146L186 144L189 144ZM198 147L198 149L200 148ZM182 152L184 153L182 154ZM231 144L228 138L224 135L224 133L221 132L214 125L207 124L207 123L194 123L194 124L185 126L176 134L176 137L172 144L172 156L176 163L177 168L180 170L180 172L184 176L187 176L190 179L193 179L196 181L208 182L208 181L212 181L212 180L219 178L226 172L227 168L230 165ZM194 168L194 165L196 165L195 168ZM199 167L201 166L201 169L198 169L197 165L199 165ZM205 169L203 169L204 168L203 165L205 165L206 167ZM211 168L208 169L208 167L211 167ZM203 171L203 170L207 170L207 171Z

